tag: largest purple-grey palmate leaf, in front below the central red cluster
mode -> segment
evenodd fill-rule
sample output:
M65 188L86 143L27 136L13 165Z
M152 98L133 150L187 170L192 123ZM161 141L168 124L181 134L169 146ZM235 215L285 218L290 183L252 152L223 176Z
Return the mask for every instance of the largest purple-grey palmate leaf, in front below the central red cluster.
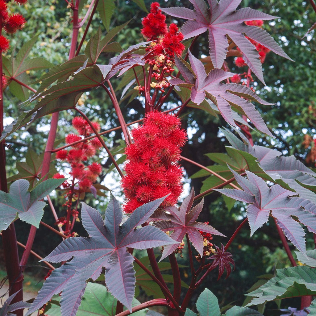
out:
M136 280L134 258L126 248L146 249L174 243L154 226L134 229L149 219L164 198L140 206L121 226L123 214L113 196L106 208L104 222L97 210L82 203L82 224L89 237L68 238L43 259L60 262L72 258L47 278L28 314L63 291L60 301L62 315L76 315L86 280L96 280L102 267L106 268L107 289L131 311Z

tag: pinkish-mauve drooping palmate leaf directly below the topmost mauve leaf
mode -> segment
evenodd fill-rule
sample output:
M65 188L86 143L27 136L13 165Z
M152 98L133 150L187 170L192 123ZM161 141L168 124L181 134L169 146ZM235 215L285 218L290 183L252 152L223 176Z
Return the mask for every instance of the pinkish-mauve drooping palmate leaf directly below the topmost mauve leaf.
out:
M178 86L191 85L191 100L197 104L201 104L207 95L208 98L216 104L225 121L233 126L236 126L236 124L234 122L235 116L233 116L231 107L233 106L238 111L240 111L241 108L244 114L259 131L273 137L255 106L244 98L246 97L247 99L257 101L264 105L272 105L271 103L262 100L251 89L245 86L235 83L221 83L222 80L233 76L234 73L215 68L207 75L203 63L194 57L190 51L189 59L191 69L186 66L183 60L175 57L175 64L179 71L181 71L185 81L179 78L174 78L169 80L171 84ZM192 74L191 70L195 76Z

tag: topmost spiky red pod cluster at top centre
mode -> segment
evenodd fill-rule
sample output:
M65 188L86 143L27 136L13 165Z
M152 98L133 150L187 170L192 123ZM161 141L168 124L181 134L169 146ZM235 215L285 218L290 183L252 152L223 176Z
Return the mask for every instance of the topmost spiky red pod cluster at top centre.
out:
M150 5L149 14L143 18L142 34L148 40L157 40L159 36L167 33L166 15L161 13L158 2Z

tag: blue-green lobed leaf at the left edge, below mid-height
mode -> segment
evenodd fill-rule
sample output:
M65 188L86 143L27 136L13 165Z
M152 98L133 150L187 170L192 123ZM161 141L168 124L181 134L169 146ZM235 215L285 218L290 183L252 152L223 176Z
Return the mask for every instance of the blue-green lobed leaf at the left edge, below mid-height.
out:
M21 179L11 184L9 193L0 191L0 231L7 229L16 218L38 228L46 205L40 200L63 182L64 179L48 179L28 192L30 183Z

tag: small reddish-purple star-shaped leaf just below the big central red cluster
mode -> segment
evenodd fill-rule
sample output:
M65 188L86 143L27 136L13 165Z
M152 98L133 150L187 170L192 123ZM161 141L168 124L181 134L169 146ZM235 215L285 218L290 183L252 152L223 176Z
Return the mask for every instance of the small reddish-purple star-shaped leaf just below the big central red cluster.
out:
M165 210L156 210L153 216L151 216L151 219L155 221L155 226L161 228L161 230L164 232L173 231L170 234L170 237L173 240L177 241L176 244L170 244L164 247L160 261L169 256L177 249L177 247L185 237L185 234L188 234L192 245L201 255L201 257L203 257L204 246L203 237L199 230L205 233L226 237L212 226L205 223L196 222L197 217L203 209L204 201L202 200L199 204L191 209L193 199L194 190L192 189L189 196L184 199L179 209L175 206L170 206L165 208ZM165 211L167 211L168 213L166 213Z

